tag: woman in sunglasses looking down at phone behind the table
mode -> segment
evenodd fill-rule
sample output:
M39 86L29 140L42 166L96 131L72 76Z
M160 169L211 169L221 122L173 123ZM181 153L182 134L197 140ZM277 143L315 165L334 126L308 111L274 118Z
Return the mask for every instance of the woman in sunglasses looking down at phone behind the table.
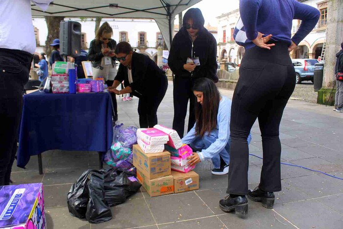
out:
M108 86L111 86L117 75L116 56L114 50L117 42L111 37L112 27L103 23L96 32L95 39L91 41L88 51L88 59L92 61L93 78L101 77ZM111 93L113 108L113 122L118 120L116 95Z

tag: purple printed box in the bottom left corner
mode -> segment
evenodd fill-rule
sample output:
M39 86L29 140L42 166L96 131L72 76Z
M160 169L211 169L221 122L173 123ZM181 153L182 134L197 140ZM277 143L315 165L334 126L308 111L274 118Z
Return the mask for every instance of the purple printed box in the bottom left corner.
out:
M46 229L43 184L0 186L0 229Z

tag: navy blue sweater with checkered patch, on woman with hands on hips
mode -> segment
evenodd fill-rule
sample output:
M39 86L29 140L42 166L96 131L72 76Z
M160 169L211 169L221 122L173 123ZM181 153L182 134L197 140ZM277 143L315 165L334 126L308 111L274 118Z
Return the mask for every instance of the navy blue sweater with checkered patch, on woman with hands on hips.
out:
M241 18L234 29L234 39L245 50L255 46L251 41L258 32L271 39L298 45L317 24L319 10L297 0L240 0ZM298 31L292 36L293 19L301 20Z

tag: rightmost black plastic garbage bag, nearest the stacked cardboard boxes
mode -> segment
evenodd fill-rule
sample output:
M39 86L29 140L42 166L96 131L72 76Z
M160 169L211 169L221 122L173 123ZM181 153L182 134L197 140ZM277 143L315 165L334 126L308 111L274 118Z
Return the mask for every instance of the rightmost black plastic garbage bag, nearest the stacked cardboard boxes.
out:
M128 177L126 172L118 175L115 169L107 170L104 182L105 199L110 206L123 204L141 186L135 177Z

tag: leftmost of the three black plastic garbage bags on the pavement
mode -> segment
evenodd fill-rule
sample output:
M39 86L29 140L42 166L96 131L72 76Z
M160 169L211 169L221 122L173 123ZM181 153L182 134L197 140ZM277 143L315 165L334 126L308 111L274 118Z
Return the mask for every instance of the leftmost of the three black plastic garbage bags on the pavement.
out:
M83 172L80 178L72 185L68 196L67 203L69 212L77 218L85 218L89 195L87 190L88 174L91 170Z

